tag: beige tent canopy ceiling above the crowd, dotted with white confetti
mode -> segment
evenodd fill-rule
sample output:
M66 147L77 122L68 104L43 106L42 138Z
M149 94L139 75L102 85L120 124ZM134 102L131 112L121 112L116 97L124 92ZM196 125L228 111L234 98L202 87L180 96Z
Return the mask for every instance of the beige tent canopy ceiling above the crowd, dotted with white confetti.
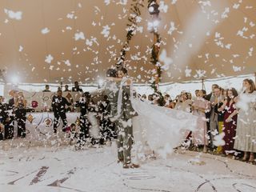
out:
M97 82L124 42L131 0L0 1L0 70L7 82ZM256 72L255 0L164 0L162 82ZM153 34L147 1L126 54L135 82L149 82ZM1 77L0 77L1 78Z

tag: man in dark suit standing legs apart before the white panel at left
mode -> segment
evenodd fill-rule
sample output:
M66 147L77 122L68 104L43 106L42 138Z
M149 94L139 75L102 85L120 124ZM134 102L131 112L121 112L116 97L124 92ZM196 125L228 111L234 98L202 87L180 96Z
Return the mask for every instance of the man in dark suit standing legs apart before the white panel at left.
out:
M71 103L62 97L62 90L58 90L57 96L54 95L51 106L54 111L54 133L57 133L57 126L60 118L63 122L62 131L66 131L67 120L66 120L66 106L71 106Z

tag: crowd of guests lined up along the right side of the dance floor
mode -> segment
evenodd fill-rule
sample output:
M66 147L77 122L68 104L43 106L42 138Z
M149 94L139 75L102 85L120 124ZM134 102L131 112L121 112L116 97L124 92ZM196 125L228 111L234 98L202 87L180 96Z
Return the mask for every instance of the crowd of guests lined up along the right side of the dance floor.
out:
M142 98L158 104L155 94L142 95ZM169 94L164 98L166 107L198 116L197 129L184 135L182 146L255 163L256 88L253 80L246 78L242 82L240 94L234 88L225 90L214 84L210 94L206 94L206 90L195 90L193 97L182 91L174 100Z

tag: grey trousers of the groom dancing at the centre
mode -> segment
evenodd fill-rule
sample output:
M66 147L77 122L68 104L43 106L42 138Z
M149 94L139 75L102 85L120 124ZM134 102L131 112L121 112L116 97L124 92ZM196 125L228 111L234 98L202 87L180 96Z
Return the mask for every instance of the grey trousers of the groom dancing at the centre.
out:
M118 128L118 160L123 161L126 164L129 164L131 162L130 150L133 144L132 126L127 125L127 123L123 122L122 120L116 122L116 126Z

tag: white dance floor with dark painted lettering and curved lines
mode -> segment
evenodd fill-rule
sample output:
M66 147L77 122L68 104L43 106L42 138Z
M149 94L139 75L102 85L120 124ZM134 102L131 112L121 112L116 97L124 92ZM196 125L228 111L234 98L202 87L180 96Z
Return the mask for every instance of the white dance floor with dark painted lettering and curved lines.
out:
M0 142L1 145L1 142ZM122 169L116 146L0 150L0 191L256 191L256 166L186 151Z

